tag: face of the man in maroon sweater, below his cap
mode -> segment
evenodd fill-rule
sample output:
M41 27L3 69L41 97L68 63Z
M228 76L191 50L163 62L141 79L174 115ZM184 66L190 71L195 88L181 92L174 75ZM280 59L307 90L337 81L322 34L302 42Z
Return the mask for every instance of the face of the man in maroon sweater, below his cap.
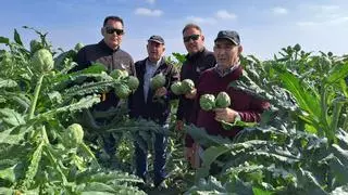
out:
M217 39L215 41L214 56L217 65L222 68L228 68L238 63L241 51L241 46L236 46L227 39Z

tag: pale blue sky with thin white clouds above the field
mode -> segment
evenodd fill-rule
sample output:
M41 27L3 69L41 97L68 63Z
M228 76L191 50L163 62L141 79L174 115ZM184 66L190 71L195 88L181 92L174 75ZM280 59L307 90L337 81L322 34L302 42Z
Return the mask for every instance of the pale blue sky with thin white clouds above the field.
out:
M30 26L63 50L100 41L104 17L121 16L121 48L135 61L147 56L151 35L164 38L165 55L186 53L182 29L188 23L202 28L208 50L219 30L232 29L239 32L244 53L262 60L296 43L306 51L348 53L347 0L2 0L1 6L0 36L13 40L17 29L28 46L38 38L22 28Z

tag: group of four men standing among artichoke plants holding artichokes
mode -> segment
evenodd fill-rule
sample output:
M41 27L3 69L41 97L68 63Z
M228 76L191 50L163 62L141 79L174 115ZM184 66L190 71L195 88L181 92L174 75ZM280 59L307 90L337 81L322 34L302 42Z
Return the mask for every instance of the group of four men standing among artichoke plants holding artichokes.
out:
M164 58L165 42L159 35L151 36L147 41L148 57L134 63L132 56L120 46L124 36L124 23L119 16L104 18L101 28L103 39L97 44L90 44L79 50L76 58L78 66L74 70L88 67L98 62L109 70L125 69L139 80L138 89L129 96L129 116L157 121L163 130L169 128L171 105L170 101L178 99L175 129L183 131L184 123L194 123L204 128L209 134L220 134L233 138L240 129L224 130L220 120L234 122L236 118L243 121L259 121L261 113L269 107L269 103L258 100L241 91L228 88L228 84L239 79L243 73L239 55L243 52L238 32L234 30L219 31L213 52L204 48L204 35L196 24L187 24L183 29L183 40L187 50L186 61L182 69L176 69ZM150 80L158 74L163 74L165 84L157 90L150 88ZM190 79L195 89L183 95L171 91L171 84L179 80ZM199 99L203 94L214 94L225 91L233 104L226 108L203 110L199 106ZM161 98L163 101L154 101ZM110 92L107 98L94 108L105 110L116 106L117 96ZM189 135L185 140L185 157L192 161L195 147L194 139ZM157 133L154 139L154 178L156 186L166 178L166 136ZM135 143L136 174L146 180L147 151Z

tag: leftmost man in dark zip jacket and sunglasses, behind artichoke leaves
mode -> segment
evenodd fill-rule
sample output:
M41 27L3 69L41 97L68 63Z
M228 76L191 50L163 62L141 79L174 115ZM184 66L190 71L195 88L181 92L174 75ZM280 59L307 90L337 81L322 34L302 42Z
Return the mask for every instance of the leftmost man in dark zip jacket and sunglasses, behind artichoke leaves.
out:
M119 16L107 16L101 28L103 39L96 44L86 46L80 49L76 56L78 64L72 72L87 68L92 63L103 64L109 72L113 69L126 69L129 75L135 75L134 61L132 56L121 50L121 42L124 36L124 23ZM111 90L109 93L101 95L101 102L94 105L92 112L105 112L112 107L116 107L120 99ZM85 112L86 115L86 112ZM91 121L88 121L91 122ZM97 119L97 125L107 125L105 118ZM92 125L90 125L92 127ZM104 150L112 156L115 153L115 140L111 134L104 135Z

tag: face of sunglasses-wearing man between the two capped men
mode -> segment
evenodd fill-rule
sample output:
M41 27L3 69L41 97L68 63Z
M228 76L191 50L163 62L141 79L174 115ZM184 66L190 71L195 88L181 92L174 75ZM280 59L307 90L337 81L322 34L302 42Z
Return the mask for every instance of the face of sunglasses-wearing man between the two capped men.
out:
M204 36L197 28L187 28L183 34L183 39L185 48L189 54L195 54L201 51L204 47ZM188 41L185 41L185 39Z

